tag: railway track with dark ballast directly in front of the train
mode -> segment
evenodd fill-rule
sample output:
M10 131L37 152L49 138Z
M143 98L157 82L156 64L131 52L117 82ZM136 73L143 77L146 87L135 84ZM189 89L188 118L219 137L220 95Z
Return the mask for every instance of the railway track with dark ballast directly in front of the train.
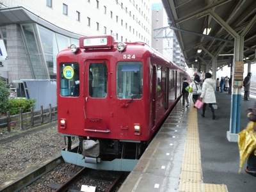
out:
M128 174L128 172L92 170L64 163L62 157L58 155L10 184L1 186L1 191L81 191L82 186L94 188L97 192L115 191ZM40 185L44 187L38 188Z

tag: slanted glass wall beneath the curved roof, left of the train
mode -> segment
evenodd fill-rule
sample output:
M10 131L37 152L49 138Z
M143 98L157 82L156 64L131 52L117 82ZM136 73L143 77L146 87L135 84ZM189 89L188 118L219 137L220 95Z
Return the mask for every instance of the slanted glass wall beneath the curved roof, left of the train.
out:
M38 24L22 24L22 36L34 79L56 79L56 56L79 40L54 33Z

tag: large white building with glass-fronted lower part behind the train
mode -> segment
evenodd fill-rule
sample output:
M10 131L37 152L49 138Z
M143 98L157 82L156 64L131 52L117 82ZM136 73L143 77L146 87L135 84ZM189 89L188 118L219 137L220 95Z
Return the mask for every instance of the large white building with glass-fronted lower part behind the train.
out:
M3 0L0 76L8 83L55 79L58 52L78 44L81 35L151 45L151 15L150 0Z

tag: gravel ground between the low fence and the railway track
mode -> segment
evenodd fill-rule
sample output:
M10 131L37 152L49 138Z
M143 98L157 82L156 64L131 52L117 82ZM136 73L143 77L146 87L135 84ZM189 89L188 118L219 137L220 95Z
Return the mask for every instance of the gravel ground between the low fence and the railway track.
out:
M0 184L13 179L65 147L64 137L58 133L56 122L21 131L0 129ZM4 141L4 142L3 142Z

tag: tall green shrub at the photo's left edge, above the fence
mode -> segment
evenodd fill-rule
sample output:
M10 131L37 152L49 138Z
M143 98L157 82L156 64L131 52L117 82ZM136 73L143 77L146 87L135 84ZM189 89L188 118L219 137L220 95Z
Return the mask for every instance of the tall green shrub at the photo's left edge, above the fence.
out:
M8 95L10 91L6 86L6 82L0 79L0 116L6 113L8 109Z

